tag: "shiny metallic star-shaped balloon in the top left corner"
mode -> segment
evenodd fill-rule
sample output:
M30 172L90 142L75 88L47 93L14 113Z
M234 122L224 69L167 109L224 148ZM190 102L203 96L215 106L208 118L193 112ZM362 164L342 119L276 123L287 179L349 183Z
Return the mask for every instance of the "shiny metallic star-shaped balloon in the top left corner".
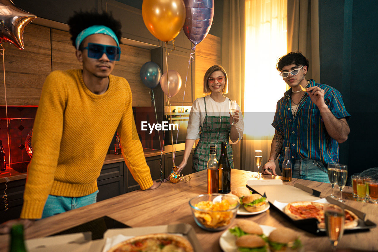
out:
M22 50L23 30L37 16L14 6L11 0L0 0L0 43L8 42Z

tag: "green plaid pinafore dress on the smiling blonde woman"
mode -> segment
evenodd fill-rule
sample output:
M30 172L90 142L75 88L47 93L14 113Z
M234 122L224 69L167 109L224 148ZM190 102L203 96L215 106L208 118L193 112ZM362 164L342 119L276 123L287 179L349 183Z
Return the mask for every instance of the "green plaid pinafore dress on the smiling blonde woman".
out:
M215 145L217 150L217 160L220 158L220 150L222 142L229 142L229 135L231 131L229 117L214 117L208 115L206 110L206 100L205 102L205 113L206 116L203 120L203 124L200 130L200 140L194 149L193 153L193 172L202 171L207 169L207 163L210 154L210 145ZM227 145L227 157L230 162L231 169L234 168L234 160L232 159L232 148Z

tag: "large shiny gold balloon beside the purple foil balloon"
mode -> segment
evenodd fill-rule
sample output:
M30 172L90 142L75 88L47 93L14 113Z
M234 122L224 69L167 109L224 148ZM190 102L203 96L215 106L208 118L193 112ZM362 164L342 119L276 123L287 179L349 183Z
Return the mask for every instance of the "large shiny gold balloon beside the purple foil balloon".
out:
M174 39L184 26L183 0L143 0L142 16L147 29L161 41Z

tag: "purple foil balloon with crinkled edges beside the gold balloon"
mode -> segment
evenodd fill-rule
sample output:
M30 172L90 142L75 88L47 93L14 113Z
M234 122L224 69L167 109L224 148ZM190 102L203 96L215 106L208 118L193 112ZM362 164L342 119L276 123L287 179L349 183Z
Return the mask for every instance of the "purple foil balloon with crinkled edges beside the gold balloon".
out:
M195 47L209 33L214 17L214 0L184 0L184 3L186 18L183 30Z

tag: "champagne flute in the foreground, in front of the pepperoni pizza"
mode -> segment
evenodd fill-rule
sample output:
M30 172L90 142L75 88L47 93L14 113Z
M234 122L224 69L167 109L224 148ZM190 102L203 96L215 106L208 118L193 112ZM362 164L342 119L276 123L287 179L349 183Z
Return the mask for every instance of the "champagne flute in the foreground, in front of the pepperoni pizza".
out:
M324 207L325 231L331 242L333 251L344 233L345 213L344 209L337 205L326 204Z

